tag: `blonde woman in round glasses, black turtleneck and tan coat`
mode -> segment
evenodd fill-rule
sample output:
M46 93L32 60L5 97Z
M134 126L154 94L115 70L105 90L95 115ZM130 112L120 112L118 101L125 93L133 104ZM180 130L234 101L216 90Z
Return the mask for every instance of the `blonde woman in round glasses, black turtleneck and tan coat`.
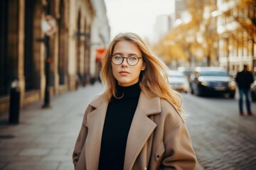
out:
M196 169L168 68L139 35L121 33L105 52L105 91L85 111L75 169Z

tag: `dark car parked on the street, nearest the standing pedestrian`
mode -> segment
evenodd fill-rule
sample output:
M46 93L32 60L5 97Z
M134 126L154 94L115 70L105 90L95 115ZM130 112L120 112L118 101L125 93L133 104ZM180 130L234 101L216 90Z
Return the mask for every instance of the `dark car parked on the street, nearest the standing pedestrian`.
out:
M228 94L235 98L235 81L220 67L196 67L190 77L191 94Z

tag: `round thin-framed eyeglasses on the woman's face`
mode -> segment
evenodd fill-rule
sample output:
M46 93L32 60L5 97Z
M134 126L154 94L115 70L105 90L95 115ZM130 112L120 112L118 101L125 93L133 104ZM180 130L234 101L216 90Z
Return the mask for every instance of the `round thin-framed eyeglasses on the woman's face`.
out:
M136 64L138 64L139 60L142 58L142 57L137 57L137 56L129 56L129 57L122 57L122 55L113 55L111 58L111 62L115 65L119 65L119 64L122 64L122 62L124 62L124 59L127 60L127 63L130 65L130 66L134 66Z

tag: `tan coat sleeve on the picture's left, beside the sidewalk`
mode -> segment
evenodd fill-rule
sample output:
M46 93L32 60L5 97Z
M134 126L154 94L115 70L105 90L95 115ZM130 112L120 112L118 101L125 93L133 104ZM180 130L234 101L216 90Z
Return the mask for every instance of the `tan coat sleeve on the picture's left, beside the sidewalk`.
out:
M82 152L82 147L84 147L85 139L87 137L87 127L85 126L87 123L87 114L90 111L91 106L88 106L85 110L85 114L82 120L82 127L80 129L78 139L75 142L75 149L73 151L73 164L76 166L78 160L80 158L80 154Z

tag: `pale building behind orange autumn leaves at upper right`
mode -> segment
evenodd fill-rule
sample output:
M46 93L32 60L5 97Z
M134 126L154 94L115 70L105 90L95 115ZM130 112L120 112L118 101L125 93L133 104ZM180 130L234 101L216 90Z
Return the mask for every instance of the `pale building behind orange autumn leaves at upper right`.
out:
M244 3L244 8L238 5ZM226 67L230 74L248 64L256 72L256 8L245 1L217 1L218 10L213 16L218 19L220 67ZM250 21L250 19L252 21Z

